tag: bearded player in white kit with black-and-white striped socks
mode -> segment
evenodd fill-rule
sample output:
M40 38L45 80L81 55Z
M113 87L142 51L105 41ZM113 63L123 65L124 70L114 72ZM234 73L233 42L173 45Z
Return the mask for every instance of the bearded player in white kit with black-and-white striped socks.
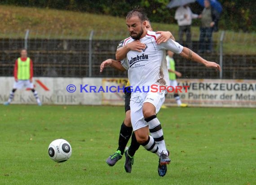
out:
M190 49L185 48L177 42L169 39L165 43L157 44L156 38L159 34L146 30L146 14L141 9L130 11L126 17L126 24L130 33L129 38L124 40L122 48L116 52L116 60L122 61L122 65L128 70L128 79L133 89L140 89L132 92L130 107L132 128L137 141L146 150L159 154L159 166L166 166L170 163L163 138L163 130L156 117L164 101L165 91L158 90L153 93L151 85L168 86L168 70L163 57L166 57L165 50L180 54L182 57L221 70L215 62L208 62ZM126 44L137 41L144 46L133 51L126 47ZM149 130L151 136L149 136ZM133 156L129 150L125 152L126 162L132 165ZM165 171L166 173L166 171ZM159 174L161 176L161 174Z

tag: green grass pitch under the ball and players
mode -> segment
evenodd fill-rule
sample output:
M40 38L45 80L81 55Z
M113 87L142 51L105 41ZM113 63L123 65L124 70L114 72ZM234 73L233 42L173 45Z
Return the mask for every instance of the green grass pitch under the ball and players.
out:
M159 112L172 162L159 177L158 159L143 147L132 173L124 157L114 167L124 108L119 106L0 106L0 184L21 185L253 185L255 109L168 108ZM48 145L71 143L72 156L55 163Z

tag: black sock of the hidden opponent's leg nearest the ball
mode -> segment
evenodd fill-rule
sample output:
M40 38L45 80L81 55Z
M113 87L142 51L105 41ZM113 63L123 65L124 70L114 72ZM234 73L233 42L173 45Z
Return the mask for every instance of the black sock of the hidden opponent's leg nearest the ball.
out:
M127 127L123 122L120 128L118 149L117 149L121 151L122 155L124 154L125 146L127 145L131 135L132 135L132 127Z

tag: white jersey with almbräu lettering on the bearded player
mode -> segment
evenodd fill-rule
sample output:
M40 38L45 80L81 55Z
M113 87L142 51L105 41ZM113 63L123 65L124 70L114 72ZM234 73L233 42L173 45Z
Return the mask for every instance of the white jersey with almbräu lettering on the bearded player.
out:
M165 43L156 44L156 38L160 34L147 31L145 37L140 42L146 44L142 52L129 51L126 59L122 61L124 68L128 69L128 79L133 89L139 87L142 91L153 84L169 84L169 75L166 62L166 50L173 53L181 53L183 46L169 39ZM134 41L131 37L119 44L119 48ZM146 88L145 88L146 87ZM132 97L139 95L140 92L133 92Z

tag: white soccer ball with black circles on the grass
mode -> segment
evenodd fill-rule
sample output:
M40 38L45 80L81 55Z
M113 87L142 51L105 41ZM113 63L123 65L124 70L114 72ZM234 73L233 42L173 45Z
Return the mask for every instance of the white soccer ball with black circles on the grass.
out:
M69 142L64 139L57 139L50 143L48 154L53 161L57 163L65 162L72 154L72 148Z

